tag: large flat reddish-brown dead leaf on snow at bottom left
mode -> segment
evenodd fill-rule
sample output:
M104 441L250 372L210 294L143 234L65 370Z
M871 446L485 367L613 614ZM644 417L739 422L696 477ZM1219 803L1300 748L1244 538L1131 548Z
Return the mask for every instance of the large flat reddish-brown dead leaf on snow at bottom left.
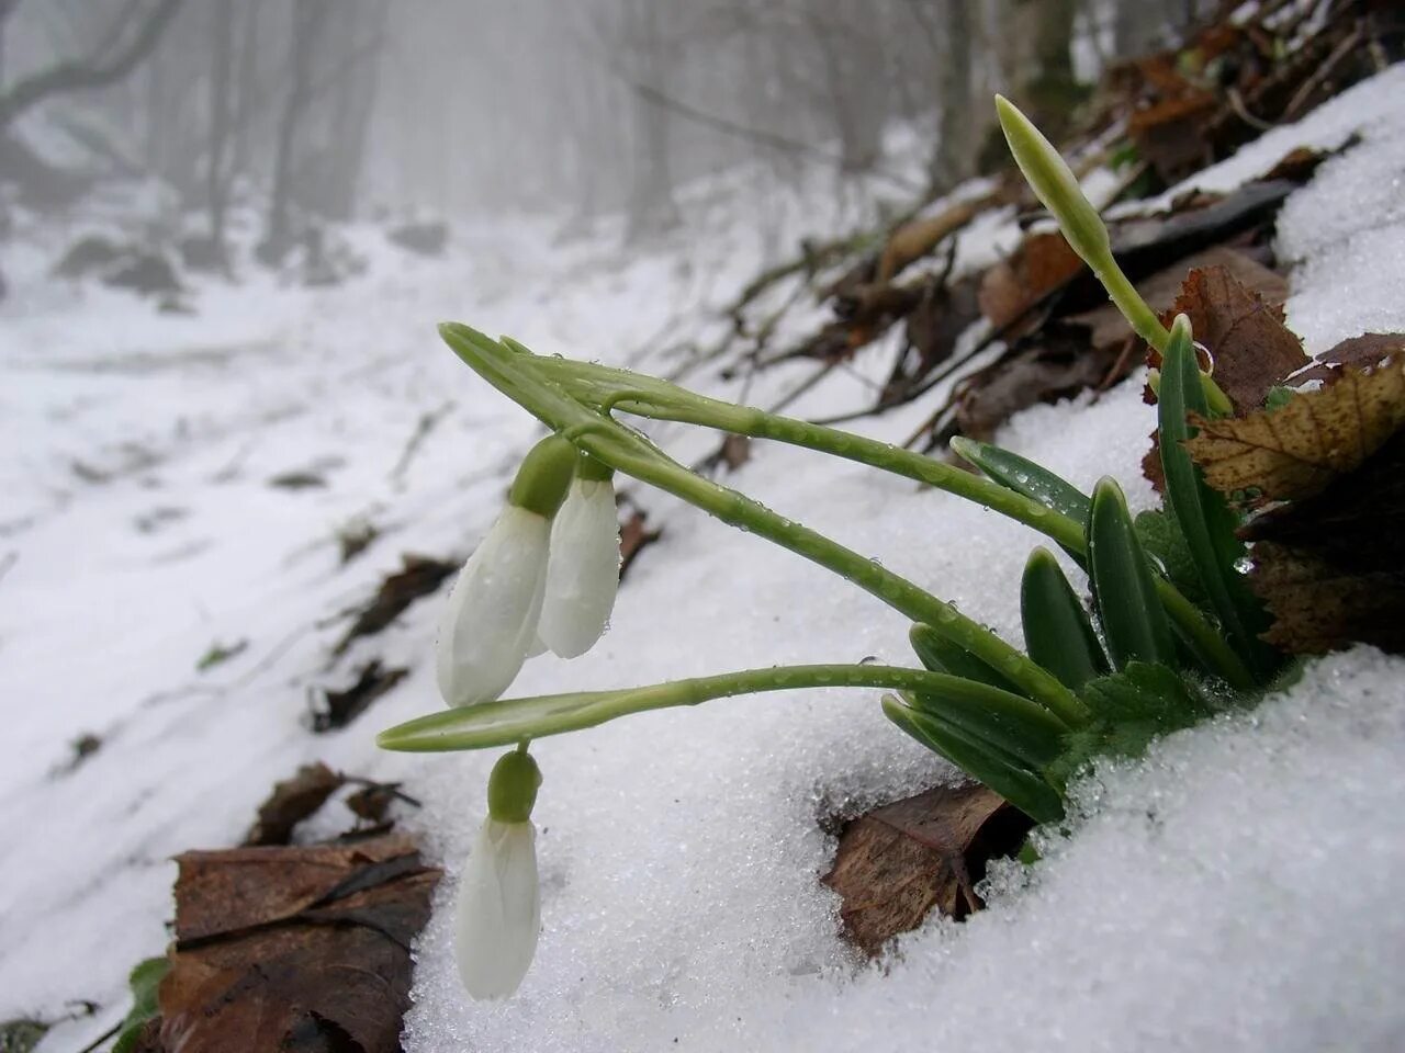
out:
M403 835L185 852L160 987L167 1053L398 1053L438 870Z

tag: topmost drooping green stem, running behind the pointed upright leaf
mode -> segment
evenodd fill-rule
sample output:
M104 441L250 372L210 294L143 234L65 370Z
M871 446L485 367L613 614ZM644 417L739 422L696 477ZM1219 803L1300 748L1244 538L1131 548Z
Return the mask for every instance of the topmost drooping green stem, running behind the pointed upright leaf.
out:
M750 406L735 406L719 399L708 399L665 380L638 376L624 369L573 362L566 358L534 357L531 361L554 380L569 386L604 410L620 409L653 420L700 424L739 435L788 442L821 453L856 461L975 501L1023 522L1079 556L1087 550L1083 525L1078 521L989 479L901 449L892 444L794 417L770 414ZM1243 661L1215 628L1205 621L1200 609L1186 600L1173 584L1159 576L1156 577L1156 595L1196 653L1201 654L1227 682L1238 688L1253 685L1253 677ZM930 623L930 618L917 621Z

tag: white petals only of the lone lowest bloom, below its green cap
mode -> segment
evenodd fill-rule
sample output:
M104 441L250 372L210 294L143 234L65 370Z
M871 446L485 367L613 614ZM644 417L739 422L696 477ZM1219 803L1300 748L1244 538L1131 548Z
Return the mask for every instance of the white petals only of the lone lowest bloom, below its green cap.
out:
M485 819L458 886L454 949L473 998L507 998L521 984L541 931L537 828Z

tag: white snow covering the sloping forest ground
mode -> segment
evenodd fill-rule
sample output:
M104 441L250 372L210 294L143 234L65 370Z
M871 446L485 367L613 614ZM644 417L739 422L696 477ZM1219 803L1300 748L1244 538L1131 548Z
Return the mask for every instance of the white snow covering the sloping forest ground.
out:
M1232 185L1287 147L1363 135L1280 222L1286 257L1308 260L1288 320L1309 350L1405 330L1402 88L1405 70L1391 70L1220 173ZM520 220L459 232L447 263L367 232L372 265L348 285L212 284L192 317L44 279L55 246L7 260L0 1019L52 1016L77 998L104 1005L52 1032L53 1052L115 1019L126 970L164 945L170 856L236 842L270 785L312 760L403 779L424 800L410 821L448 870L450 901L495 757L398 757L372 743L438 705L441 598L332 656L347 623L337 615L400 553L468 553L535 434L438 344L433 323L611 362L705 340L704 305L725 302L760 263L742 190L715 181L693 201L702 233L628 257L608 237L554 244L548 225ZM821 199L787 213L785 237L825 229ZM1009 223L979 226L962 258L1013 239ZM878 373L884 358L868 352L854 372ZM766 404L805 368L763 375L749 397ZM854 372L791 411L870 399ZM738 390L708 369L690 383ZM396 473L423 414L447 404ZM926 411L860 427L901 439ZM1080 484L1111 475L1146 505L1138 462L1149 427L1128 383L1096 403L1030 410L1002 441ZM684 461L715 444L679 427L655 434ZM268 484L289 470L327 484ZM759 448L726 482L1019 639L1027 531L788 448ZM631 570L611 632L579 660L534 660L511 694L909 661L906 625L875 600L659 494L638 497L665 535ZM358 519L382 535L341 566L337 531ZM197 671L212 644L239 640L240 654ZM375 657L410 675L347 729L308 731L309 694L350 685ZM1399 1049L1402 674L1405 661L1364 649L1339 656L1252 717L1099 771L1038 866L999 873L989 911L960 927L933 921L882 970L857 966L837 938L835 899L816 880L833 841L818 819L951 772L882 719L875 692L732 699L544 740L537 962L510 1002L468 1002L438 910L419 948L406 1047ZM83 733L103 744L65 769Z

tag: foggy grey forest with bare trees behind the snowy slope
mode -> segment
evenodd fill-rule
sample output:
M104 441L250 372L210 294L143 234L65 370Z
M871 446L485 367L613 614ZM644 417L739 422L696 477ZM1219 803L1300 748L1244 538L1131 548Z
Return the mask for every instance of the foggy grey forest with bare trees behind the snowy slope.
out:
M4 208L160 187L188 265L230 215L277 264L309 227L511 209L628 239L680 185L816 163L895 201L1002 157L989 97L1059 121L1193 0L0 0ZM891 166L885 131L924 150ZM759 213L764 213L760 202ZM253 222L253 220L250 220ZM159 237L162 232L152 232Z

